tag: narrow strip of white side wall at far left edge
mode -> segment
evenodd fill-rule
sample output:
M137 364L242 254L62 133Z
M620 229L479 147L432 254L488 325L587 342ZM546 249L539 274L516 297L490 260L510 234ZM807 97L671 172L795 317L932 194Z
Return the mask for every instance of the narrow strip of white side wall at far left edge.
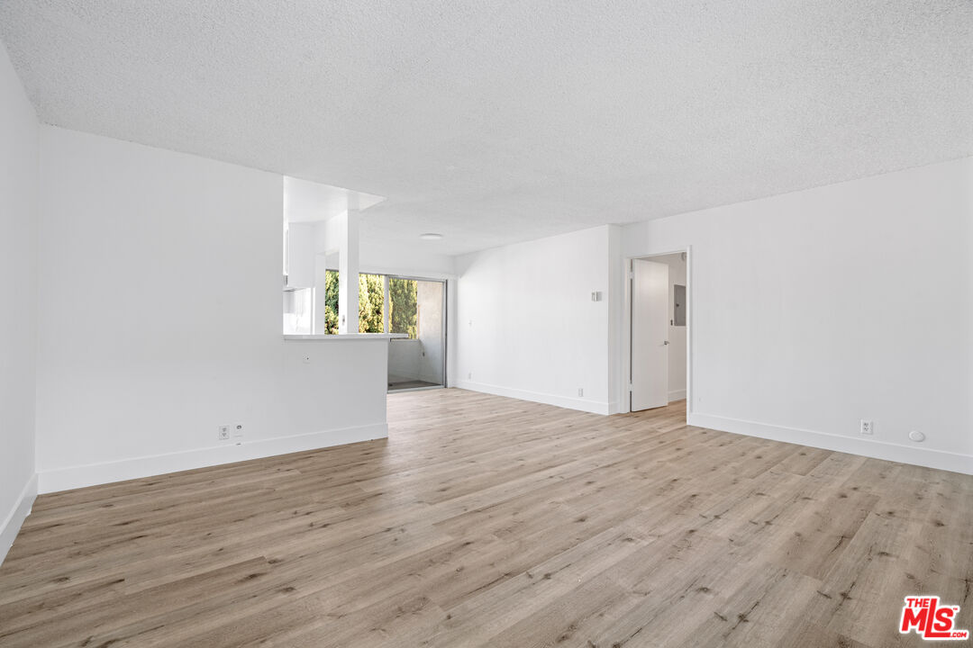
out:
M34 475L37 118L0 44L0 562Z

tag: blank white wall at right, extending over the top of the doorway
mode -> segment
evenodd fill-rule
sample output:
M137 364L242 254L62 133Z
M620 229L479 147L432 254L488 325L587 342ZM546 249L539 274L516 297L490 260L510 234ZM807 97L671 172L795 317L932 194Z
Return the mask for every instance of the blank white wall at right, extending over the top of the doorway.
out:
M691 423L973 472L973 158L631 224L623 242L692 246Z

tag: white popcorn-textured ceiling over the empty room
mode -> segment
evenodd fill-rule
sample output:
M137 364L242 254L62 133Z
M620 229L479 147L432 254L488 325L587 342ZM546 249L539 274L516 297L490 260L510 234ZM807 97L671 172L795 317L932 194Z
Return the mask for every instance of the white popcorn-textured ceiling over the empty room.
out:
M4 0L44 121L448 254L973 153L969 0Z

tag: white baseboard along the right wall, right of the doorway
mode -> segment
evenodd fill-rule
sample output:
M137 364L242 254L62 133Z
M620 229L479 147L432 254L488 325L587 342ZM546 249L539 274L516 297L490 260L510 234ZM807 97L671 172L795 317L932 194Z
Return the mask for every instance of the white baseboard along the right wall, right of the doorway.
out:
M691 426L708 427L709 429L718 429L724 432L745 434L747 436L758 436L762 439L796 443L802 446L811 446L811 448L822 448L824 450L848 453L849 455L899 461L900 463L912 463L929 468L939 468L940 470L950 470L952 472L973 475L973 457L944 452L942 450L905 446L897 443L877 441L875 439L855 438L841 434L832 434L830 432L818 432L811 429L770 426L763 423L729 419L712 414L692 413L688 417L688 423Z

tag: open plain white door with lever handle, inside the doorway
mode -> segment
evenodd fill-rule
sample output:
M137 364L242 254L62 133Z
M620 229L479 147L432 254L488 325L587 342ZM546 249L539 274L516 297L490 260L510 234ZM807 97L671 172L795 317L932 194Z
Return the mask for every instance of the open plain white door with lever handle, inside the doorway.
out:
M668 404L668 266L631 262L631 411Z

